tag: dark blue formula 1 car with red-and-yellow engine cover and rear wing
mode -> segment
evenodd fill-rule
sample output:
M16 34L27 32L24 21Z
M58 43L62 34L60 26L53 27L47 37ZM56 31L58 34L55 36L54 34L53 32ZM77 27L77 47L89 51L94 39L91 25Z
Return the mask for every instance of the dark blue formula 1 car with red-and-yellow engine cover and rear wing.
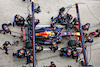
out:
M26 26L22 28L22 38L24 42L31 41L31 29L30 26ZM61 32L61 29L58 27L43 27L35 30L36 43L43 45L52 45L53 42L61 43L62 37L64 36L80 36L79 32Z

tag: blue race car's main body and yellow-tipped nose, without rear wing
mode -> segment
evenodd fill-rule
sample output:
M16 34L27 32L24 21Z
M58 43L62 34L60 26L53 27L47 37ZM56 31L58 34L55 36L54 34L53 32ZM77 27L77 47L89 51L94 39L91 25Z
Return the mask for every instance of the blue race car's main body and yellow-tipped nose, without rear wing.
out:
M36 42L41 44L52 44L53 42L61 43L62 37L73 36L80 34L78 32L62 32L58 27L45 27L35 31Z

